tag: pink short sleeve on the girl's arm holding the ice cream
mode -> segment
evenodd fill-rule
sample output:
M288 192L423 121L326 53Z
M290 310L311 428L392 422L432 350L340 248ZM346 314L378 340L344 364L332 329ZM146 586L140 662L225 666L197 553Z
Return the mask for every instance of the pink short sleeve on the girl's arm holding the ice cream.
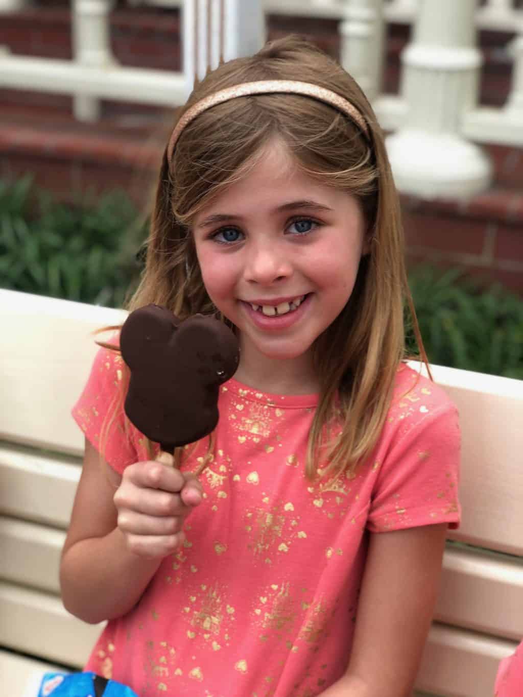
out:
M129 464L149 459L144 437L123 412L123 367L119 353L100 348L72 411L91 445L120 474Z

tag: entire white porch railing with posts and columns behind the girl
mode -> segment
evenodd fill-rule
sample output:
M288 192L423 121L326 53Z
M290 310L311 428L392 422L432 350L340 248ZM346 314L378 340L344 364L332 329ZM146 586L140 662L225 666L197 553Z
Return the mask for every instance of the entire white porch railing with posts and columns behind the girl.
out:
M523 146L523 10L513 0L128 0L183 7L183 73L123 68L109 48L112 0L72 0L74 61L0 51L0 86L75 95L75 114L98 118L100 98L173 106L194 75L221 57L261 45L263 12L340 20L341 61L393 131L388 151L400 190L423 197L469 197L490 183L478 143ZM0 13L31 4L0 0ZM386 22L411 22L399 95L381 91ZM513 84L506 105L478 104L481 54L476 31L511 31Z

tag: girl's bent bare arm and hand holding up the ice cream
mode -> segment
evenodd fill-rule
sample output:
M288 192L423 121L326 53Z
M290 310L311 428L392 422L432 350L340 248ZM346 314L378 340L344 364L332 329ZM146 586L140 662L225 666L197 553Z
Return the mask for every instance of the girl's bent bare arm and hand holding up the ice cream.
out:
M93 624L130 611L162 558L183 541L183 519L200 491L195 480L155 462L131 465L120 477L86 441L61 556L66 609Z

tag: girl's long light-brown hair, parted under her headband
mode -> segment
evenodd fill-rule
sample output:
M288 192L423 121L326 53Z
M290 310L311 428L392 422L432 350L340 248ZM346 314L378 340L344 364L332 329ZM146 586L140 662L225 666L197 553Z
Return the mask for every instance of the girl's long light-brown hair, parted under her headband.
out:
M146 267L128 309L156 302L181 319L215 312L190 225L213 197L255 165L271 139L283 141L306 174L354 195L365 216L370 252L361 259L347 305L313 346L320 396L306 473L317 475L321 452L321 461L328 461L321 472L336 475L354 470L379 438L404 359L405 299L424 357L404 266L400 204L384 136L365 95L338 63L299 37L267 43L254 56L209 72L174 125L216 91L266 79L299 79L342 95L363 114L370 139L337 109L292 93L235 98L197 116L181 132L172 162L167 148L163 155ZM334 422L341 431L331 438Z

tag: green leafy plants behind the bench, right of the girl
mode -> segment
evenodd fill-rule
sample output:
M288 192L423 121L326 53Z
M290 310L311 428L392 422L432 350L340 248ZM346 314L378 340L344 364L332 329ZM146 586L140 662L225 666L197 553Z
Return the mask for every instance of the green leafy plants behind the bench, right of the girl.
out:
M523 378L521 298L501 286L484 289L460 269L420 266L409 285L431 362Z

